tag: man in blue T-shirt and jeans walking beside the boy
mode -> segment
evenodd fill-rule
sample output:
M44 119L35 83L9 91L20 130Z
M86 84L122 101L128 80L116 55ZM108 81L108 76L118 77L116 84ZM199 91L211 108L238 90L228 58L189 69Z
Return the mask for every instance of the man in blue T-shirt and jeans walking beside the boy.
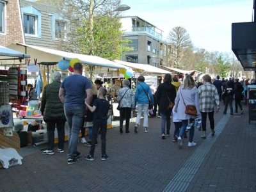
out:
M79 161L77 157L81 152L77 151L77 141L86 115L86 106L92 103L92 88L89 79L82 76L83 65L75 63L74 74L65 77L60 86L59 97L64 104L65 116L68 122L68 164Z

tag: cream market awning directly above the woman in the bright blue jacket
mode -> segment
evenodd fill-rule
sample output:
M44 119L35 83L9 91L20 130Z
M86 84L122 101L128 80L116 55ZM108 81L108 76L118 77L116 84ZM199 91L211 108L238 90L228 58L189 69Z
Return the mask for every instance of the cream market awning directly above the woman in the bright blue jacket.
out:
M147 64L139 64L139 63L129 63L125 61L115 60L116 63L121 65L125 65L126 67L132 68L135 72L140 74L154 75L154 74L170 74L168 70L163 70L161 68L154 67L152 65Z

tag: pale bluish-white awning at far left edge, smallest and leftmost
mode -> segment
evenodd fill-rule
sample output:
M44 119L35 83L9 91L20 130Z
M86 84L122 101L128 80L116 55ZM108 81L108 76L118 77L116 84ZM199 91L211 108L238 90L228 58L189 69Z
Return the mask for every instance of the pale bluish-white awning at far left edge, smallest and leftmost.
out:
M0 45L0 60L13 60L13 58L24 59L30 58L30 56Z

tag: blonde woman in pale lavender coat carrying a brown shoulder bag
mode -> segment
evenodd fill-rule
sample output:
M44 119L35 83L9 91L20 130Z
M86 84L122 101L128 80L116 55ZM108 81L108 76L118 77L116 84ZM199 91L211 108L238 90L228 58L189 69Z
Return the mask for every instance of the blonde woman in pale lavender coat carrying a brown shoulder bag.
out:
M182 120L182 127L180 129L178 138L179 148L182 148L182 135L184 134L186 127L188 126L188 120L189 123L191 123L195 119L195 116L185 113L186 105L196 106L196 116L200 116L198 91L196 88L195 80L192 76L186 76L184 84L180 86L177 92L175 106L173 107L174 110L177 111L177 119ZM195 127L192 126L189 131L188 147L193 147L196 145L196 143L193 142L194 132Z

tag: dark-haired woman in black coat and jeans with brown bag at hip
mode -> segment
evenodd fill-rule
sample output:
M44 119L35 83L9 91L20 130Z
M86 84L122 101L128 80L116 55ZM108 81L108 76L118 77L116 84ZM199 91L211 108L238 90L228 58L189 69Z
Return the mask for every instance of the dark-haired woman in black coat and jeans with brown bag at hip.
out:
M166 125L166 136L170 136L171 128L171 113L172 109L168 109L170 101L175 101L176 90L172 84L172 77L170 74L164 76L164 83L160 84L156 92L157 100L159 100L159 111L161 112L161 130L162 139L165 139L165 125ZM169 101L170 100L170 101Z

